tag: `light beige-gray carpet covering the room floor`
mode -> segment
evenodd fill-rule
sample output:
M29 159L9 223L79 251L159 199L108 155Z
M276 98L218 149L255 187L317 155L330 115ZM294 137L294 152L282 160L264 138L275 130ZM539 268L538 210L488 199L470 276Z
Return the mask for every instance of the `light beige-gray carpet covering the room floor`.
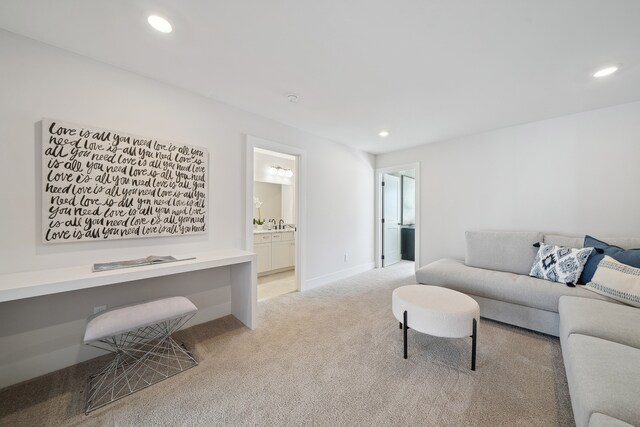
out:
M412 264L259 303L178 334L200 365L85 416L95 361L0 391L0 425L573 425L557 339L482 319L470 339L409 331L391 292Z

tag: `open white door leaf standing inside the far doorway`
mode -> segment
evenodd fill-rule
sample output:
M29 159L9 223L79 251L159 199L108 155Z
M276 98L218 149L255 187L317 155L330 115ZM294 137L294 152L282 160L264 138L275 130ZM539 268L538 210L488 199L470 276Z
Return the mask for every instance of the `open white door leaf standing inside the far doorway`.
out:
M400 261L400 177L384 174L382 186L382 266Z

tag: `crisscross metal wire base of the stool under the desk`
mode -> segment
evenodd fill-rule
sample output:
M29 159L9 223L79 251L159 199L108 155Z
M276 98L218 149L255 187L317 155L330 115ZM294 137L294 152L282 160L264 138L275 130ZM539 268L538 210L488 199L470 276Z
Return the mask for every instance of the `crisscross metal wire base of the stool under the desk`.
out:
M85 414L196 366L194 355L171 337L194 314L87 343L115 357L89 376Z

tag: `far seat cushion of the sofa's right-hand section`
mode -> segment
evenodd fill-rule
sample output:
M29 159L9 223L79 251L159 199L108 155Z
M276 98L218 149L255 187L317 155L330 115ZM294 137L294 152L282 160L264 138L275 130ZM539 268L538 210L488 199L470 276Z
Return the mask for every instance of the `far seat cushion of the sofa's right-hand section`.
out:
M560 297L560 336L589 335L640 349L640 310L591 298Z

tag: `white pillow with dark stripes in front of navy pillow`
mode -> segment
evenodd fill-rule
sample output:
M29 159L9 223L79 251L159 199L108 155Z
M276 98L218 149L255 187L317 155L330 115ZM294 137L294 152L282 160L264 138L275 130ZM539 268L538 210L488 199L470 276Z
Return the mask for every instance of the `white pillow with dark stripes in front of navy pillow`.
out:
M622 264L610 256L598 264L593 278L585 287L600 295L634 307L640 307L640 268Z

